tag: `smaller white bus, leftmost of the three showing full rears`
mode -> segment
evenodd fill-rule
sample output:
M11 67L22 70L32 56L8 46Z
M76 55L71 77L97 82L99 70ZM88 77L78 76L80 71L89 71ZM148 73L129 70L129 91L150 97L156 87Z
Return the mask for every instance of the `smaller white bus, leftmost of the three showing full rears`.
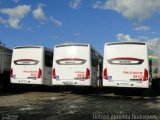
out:
M53 50L43 46L13 49L11 83L52 85Z

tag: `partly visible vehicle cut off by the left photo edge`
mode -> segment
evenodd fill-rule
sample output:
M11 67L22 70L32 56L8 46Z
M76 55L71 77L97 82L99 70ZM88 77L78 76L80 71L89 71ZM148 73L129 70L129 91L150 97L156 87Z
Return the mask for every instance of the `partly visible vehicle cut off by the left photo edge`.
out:
M8 89L10 85L12 50L0 46L0 91Z

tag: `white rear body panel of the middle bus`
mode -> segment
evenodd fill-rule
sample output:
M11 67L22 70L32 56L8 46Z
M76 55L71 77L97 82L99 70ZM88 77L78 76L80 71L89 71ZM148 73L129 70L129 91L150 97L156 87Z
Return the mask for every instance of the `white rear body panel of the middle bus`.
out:
M54 49L53 68L56 79L53 85L91 84L91 76L85 79L86 69L90 68L90 51L88 46L64 46Z

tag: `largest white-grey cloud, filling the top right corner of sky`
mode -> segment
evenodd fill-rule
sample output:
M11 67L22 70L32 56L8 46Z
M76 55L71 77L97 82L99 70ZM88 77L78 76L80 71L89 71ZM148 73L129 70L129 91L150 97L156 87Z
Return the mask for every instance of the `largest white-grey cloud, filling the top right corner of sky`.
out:
M160 0L106 0L97 1L93 8L113 10L126 18L143 21L160 10Z

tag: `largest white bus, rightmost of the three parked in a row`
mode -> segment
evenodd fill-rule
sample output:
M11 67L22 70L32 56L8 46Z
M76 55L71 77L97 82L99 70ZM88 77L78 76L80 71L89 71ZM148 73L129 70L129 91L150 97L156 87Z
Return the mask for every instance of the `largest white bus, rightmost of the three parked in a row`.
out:
M155 76L150 71L148 56L146 43L106 43L103 59L103 86L149 88L152 85L151 79L159 76Z

